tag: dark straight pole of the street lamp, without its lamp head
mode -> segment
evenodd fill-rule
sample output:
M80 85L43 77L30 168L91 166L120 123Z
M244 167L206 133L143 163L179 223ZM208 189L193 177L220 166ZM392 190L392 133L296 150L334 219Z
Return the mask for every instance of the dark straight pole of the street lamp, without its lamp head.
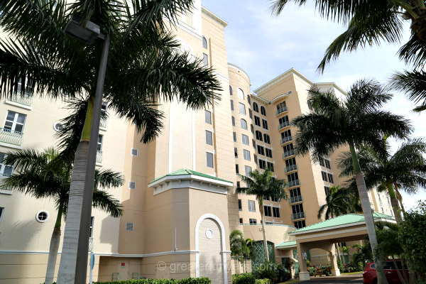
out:
M94 187L94 171L96 168L97 141L101 119L102 94L104 93L105 72L109 50L109 35L106 34L102 45L101 62L97 77L96 93L94 96L92 126L90 129L89 153L87 153L87 171L84 180L84 195L82 202L82 216L77 246L77 264L75 267L75 283L87 283L87 256L89 252L90 218L92 217L92 198Z

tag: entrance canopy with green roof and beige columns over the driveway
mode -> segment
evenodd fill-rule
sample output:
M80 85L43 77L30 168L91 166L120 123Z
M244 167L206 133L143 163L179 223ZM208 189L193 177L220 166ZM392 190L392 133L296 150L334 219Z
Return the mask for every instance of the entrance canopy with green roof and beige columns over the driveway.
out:
M395 218L386 214L373 212L374 222L392 222ZM295 236L298 259L301 260L302 254L310 249L323 249L329 253L329 259L332 263L332 275L340 275L337 267L337 260L334 252L334 243L343 241L359 241L364 239L367 234L364 215L346 214L335 217L323 222L319 222L302 229L297 229L288 233ZM276 246L276 249L294 249L294 244L288 246L290 242L283 242ZM300 280L310 280L305 261L299 261Z

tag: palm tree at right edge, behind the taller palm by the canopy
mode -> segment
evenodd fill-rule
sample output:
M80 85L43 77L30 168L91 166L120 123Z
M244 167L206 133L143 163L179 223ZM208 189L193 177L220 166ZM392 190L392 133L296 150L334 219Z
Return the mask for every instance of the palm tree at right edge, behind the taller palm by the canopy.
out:
M396 222L402 221L400 207L402 204L399 190L409 194L418 192L419 187L426 188L426 143L422 138L411 139L404 142L393 155L385 138L382 153L377 153L373 148L361 146L357 152L359 164L364 173L368 189L378 187L378 190L387 190L391 197L393 214ZM354 175L351 166L350 153L342 153L339 157L341 175Z

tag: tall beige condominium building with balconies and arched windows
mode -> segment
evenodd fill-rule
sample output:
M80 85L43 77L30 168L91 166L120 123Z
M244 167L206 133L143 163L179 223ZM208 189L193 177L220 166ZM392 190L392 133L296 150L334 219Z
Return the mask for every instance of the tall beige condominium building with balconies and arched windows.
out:
M251 94L249 75L227 62L226 25L197 0L175 30L182 50L214 69L222 83L220 101L197 111L178 102L160 104L164 129L148 144L140 142L133 124L114 113L102 124L97 168L124 174L124 185L109 190L124 214L112 218L92 210L87 226L92 228L94 280L206 276L214 284L231 283L231 274L243 268L231 260L229 233L243 231L260 254L263 239L256 198L234 193L240 182L236 174L267 167L290 184L289 201L265 201L271 256L288 262L293 250L275 246L294 239L288 232L320 221L317 211L328 188L341 184L337 154L318 164L294 155L296 130L289 121L311 111L307 89L313 82L290 69ZM344 96L336 84L320 87ZM55 146L59 121L68 114L64 107L33 94L1 101L2 178L13 173L3 163L7 153ZM391 214L383 193L372 192L371 202L376 211ZM0 190L1 284L43 282L55 217L53 200ZM312 261L322 257L318 250L310 254Z

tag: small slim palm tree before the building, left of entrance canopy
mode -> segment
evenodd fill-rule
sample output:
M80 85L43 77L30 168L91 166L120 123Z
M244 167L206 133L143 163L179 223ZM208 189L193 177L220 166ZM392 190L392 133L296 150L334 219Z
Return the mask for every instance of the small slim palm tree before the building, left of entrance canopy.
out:
M276 200L288 200L287 192L285 192L284 187L287 186L285 180L277 180L273 178L272 171L270 168L267 168L263 173L258 172L258 170L252 170L249 173L249 176L240 175L240 178L243 182L246 183L246 187L238 187L236 189L237 193L243 193L246 195L255 195L256 199L259 202L259 212L261 212L261 222L262 222L262 231L263 231L263 244L265 246L265 258L266 261L269 261L268 254L268 243L266 241L266 231L265 231L265 211L263 208L263 198L272 197Z

